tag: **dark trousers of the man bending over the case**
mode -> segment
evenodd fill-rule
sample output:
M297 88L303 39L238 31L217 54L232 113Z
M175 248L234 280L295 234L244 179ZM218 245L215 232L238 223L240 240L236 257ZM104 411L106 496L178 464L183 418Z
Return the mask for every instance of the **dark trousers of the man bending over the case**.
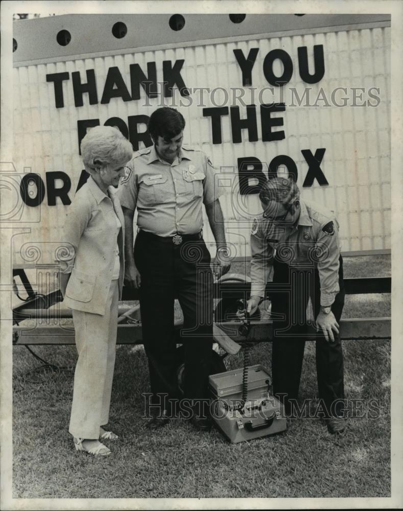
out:
M340 321L344 306L343 261L339 259L339 286L332 305L332 312ZM306 309L311 297L312 309L316 319L320 311L320 281L315 268L289 267L274 259L273 284L285 285L287 291L274 292L271 295L271 312L283 315L284 319L273 317L272 379L273 393L287 394L279 396L290 413L290 399L298 396L301 368L304 357L307 332ZM281 286L280 286L281 287ZM316 374L319 399L325 405L325 416L341 415L344 408L343 352L341 340L334 333L335 341L326 341L323 334L316 340Z

